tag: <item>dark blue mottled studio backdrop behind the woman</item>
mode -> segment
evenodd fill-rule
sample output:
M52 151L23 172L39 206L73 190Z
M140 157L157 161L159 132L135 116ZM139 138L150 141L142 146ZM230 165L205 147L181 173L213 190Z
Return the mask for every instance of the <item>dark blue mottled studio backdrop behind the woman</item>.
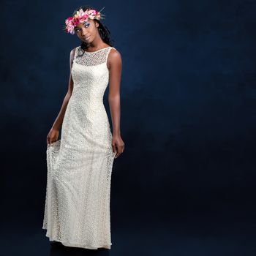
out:
M80 45L64 20L83 4L105 7L123 60L110 254L255 255L251 0L1 2L0 255L49 255L46 136Z

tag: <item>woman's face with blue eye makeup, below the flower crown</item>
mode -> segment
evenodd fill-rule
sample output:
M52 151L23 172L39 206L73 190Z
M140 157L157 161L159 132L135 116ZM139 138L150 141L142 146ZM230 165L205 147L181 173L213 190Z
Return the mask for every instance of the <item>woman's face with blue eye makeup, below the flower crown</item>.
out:
M99 34L97 27L99 24L94 22L94 20L88 20L83 23L79 23L75 26L75 33L78 35L79 39L87 44L92 42L95 37Z

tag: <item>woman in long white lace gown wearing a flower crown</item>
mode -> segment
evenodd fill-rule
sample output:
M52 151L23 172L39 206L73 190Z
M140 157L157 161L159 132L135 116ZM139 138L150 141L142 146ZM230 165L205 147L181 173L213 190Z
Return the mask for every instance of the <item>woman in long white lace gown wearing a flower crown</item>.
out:
M80 7L65 22L65 31L76 34L81 44L70 52L68 91L48 133L46 151L42 228L50 241L87 249L110 249L111 172L113 160L124 152L121 55L110 45L101 19L100 12ZM108 83L113 135L103 105Z

